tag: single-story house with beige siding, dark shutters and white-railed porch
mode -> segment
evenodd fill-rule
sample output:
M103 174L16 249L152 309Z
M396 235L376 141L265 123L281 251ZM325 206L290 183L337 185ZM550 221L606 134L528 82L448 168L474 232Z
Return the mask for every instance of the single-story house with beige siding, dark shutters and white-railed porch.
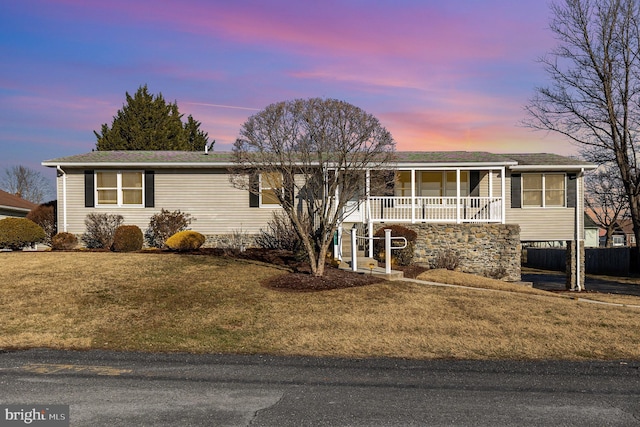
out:
M254 194L231 184L230 152L92 151L42 164L58 170L58 230L77 235L92 212L120 214L144 230L164 208L191 214L191 228L215 246L234 232L259 233L280 209L264 185ZM392 168L391 191L365 191L343 229L355 224L371 236L384 224L433 226L428 233L455 237L447 245L468 245L467 257L495 246L483 239L502 236L503 229L517 235L518 247L520 241L584 239L583 174L595 168L591 163L555 154L398 152ZM428 240L432 247L437 239ZM428 248L416 251L433 256Z

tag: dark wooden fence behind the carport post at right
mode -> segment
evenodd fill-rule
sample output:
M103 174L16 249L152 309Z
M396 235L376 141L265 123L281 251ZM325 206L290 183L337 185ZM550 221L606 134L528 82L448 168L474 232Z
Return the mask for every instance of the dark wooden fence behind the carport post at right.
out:
M523 265L544 270L565 271L567 250L564 248L526 248ZM585 271L587 274L629 274L630 248L586 248Z

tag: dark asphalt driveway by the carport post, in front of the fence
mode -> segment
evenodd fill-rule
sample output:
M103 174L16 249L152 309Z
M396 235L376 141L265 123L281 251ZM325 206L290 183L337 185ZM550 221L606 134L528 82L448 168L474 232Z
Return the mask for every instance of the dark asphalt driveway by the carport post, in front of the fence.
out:
M565 274L556 271L523 269L522 281L531 282L534 288L545 291L565 291L567 289ZM640 285L605 280L589 275L585 280L585 288L587 291L605 294L640 296Z

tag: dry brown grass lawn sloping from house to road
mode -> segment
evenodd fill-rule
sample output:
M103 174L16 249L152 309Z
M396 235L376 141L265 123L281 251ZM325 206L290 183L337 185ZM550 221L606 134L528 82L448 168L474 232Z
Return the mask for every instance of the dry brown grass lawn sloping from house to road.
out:
M0 253L0 263L0 348L640 359L638 309L525 287L283 292L261 285L281 268L196 255Z

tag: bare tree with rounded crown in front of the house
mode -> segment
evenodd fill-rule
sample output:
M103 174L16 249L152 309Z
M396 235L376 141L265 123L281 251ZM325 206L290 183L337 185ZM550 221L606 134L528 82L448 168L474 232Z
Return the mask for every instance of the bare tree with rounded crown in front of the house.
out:
M269 105L250 117L234 145L232 181L280 205L299 235L315 276L347 202L365 196L365 176L389 165L395 142L378 119L334 99Z

